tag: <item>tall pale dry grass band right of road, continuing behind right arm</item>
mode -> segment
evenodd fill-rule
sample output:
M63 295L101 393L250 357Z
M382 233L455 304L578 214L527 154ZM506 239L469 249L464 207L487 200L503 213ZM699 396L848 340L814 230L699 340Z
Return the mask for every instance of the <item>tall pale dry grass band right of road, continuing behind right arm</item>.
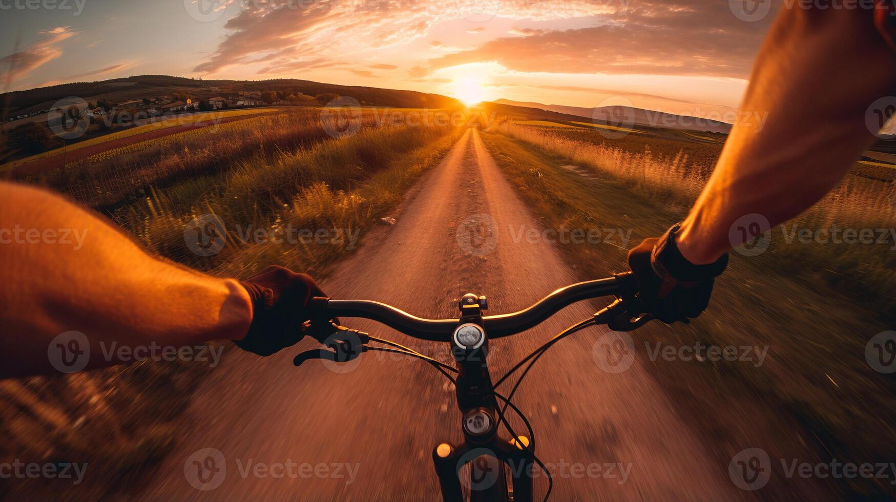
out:
M609 146L612 142L573 140L546 128L498 122L492 132L503 134L538 147L543 151L594 169L603 176L625 183L635 194L663 200L686 209L694 203L706 184L712 166L694 163L678 151L674 155L650 151L644 140L643 151ZM597 133L589 133L595 134ZM773 180L770 180L773 182ZM838 186L808 211L784 225L771 229L771 252L786 259L782 268L798 263L803 267L828 271L838 288L857 293L872 293L879 307L889 309L896 295L896 239L891 235L884 244L814 242L806 244L794 238L793 229L871 229L875 238L881 231L896 228L896 184L848 175ZM682 214L684 216L684 214ZM786 230L786 232L785 232Z

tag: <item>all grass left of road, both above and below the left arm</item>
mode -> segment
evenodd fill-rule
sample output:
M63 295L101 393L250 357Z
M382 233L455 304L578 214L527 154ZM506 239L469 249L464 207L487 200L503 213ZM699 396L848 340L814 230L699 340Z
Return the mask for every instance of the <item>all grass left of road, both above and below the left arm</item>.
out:
M149 197L120 207L114 216L151 252L208 273L245 278L268 264L282 264L321 278L401 203L409 186L462 133L454 126L367 127L352 137L295 151L258 150L236 160L232 169L151 187ZM226 244L217 255L195 255L186 246L185 229L202 214L226 222ZM237 225L272 230L289 224L343 229L357 238L244 242L236 231ZM211 345L224 349L228 344ZM127 493L145 482L147 472L177 443L183 428L175 428L175 420L212 370L199 361L142 361L0 382L0 428L6 433L0 462L22 458L90 465L81 485L15 480L0 486L0 498L65 494L95 500Z

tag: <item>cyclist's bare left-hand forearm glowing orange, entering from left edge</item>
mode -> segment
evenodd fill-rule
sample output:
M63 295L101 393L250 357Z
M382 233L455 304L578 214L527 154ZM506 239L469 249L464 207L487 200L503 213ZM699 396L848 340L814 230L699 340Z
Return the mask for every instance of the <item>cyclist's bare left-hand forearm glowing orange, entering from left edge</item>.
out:
M0 377L53 372L48 345L67 331L87 336L90 368L119 362L110 347L241 339L252 320L239 282L153 258L29 186L0 183L0 264Z

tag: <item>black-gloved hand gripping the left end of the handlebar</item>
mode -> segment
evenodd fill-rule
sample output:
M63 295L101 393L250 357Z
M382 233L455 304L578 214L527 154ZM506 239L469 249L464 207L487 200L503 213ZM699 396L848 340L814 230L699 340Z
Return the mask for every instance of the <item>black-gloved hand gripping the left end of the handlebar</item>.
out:
M308 300L324 297L309 275L271 265L242 282L252 299L252 324L237 347L260 356L270 356L295 345L304 336L309 320Z

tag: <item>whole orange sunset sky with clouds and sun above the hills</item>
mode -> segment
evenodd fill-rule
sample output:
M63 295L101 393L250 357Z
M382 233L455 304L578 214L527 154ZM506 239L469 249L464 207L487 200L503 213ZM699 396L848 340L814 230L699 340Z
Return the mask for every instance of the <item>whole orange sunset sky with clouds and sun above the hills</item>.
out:
M751 2L0 0L0 85L300 78L713 117L737 108L773 18Z

